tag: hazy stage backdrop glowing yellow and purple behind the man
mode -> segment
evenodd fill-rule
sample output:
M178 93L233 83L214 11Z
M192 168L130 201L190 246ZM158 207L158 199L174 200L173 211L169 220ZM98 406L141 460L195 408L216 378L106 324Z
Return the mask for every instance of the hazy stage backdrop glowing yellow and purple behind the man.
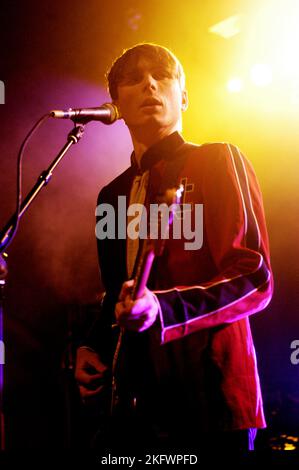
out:
M273 4L278 8L275 21L270 16ZM294 5L267 0L27 0L1 7L1 226L15 209L17 152L34 122L51 109L108 101L106 69L124 48L140 41L171 48L183 63L190 99L184 137L196 143L230 141L254 165L275 276L272 303L252 318L269 423L260 445L266 446L285 446L287 439L281 436L296 436L299 419L299 365L290 361L290 344L299 339L299 81L297 69L286 74L283 48L275 49L275 43L277 57L270 54L267 26L273 21L288 26ZM238 34L225 39L209 30L235 16ZM264 34L260 42L257 25ZM286 37L276 40L285 44ZM291 61L296 64L298 57L291 55ZM265 62L272 66L272 81L268 87L254 87L250 67ZM230 93L226 84L236 74L243 89ZM24 194L64 145L71 128L70 121L49 120L36 133L24 157ZM23 217L8 250L4 314L10 449L69 445L69 392L75 391L61 363L70 324L92 318L88 306L101 291L96 197L128 166L130 152L122 121L113 126L90 123ZM76 408L76 398L74 403Z

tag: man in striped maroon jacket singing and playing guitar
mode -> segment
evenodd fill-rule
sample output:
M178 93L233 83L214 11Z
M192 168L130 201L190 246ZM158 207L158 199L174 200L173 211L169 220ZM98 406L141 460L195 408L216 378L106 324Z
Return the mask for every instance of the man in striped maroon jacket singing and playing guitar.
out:
M114 436L132 445L136 439L203 451L253 449L265 420L249 316L268 305L273 291L254 170L234 145L184 141L184 72L165 47L127 49L113 63L108 85L134 151L130 167L102 188L98 205L110 204L117 214L118 197L126 196L129 205L148 208L157 194L182 184L193 227L195 209L203 207L203 238L196 249L183 235L167 239L137 300L131 294L141 238L98 240L106 294L78 349L81 396L103 392L116 323L124 340L118 382L128 406L119 407ZM184 223L184 209L181 217Z

